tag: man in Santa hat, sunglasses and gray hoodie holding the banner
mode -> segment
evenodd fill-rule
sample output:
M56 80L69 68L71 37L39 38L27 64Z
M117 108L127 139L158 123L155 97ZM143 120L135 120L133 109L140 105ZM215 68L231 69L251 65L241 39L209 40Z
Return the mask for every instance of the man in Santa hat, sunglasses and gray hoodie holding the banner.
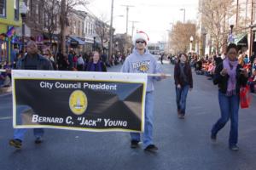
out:
M148 35L143 31L138 31L133 37L135 48L132 54L126 59L121 69L122 72L156 74L161 73L160 65L152 54L149 54L147 47ZM153 144L153 110L154 110L154 81L166 78L165 74L160 77L148 75L147 93L145 101L145 128L143 133L143 148L146 151L155 151L158 148ZM137 148L140 142L140 133L131 133L131 148Z

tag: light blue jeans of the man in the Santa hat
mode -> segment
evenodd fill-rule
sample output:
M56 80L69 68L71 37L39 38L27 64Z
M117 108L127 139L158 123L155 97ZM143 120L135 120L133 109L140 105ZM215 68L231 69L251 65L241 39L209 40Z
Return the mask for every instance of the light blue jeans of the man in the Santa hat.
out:
M153 113L154 113L153 92L147 92L145 100L145 128L143 133L143 147L153 144ZM131 140L141 140L140 133L131 133Z

